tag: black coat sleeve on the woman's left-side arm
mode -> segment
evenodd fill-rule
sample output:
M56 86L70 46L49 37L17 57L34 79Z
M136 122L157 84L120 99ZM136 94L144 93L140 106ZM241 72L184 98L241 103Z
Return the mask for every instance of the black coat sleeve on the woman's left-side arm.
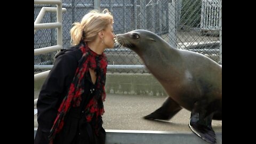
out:
M73 80L78 61L74 55L62 54L55 59L53 68L45 79L37 101L38 128L49 133L58 113L58 108L66 96Z

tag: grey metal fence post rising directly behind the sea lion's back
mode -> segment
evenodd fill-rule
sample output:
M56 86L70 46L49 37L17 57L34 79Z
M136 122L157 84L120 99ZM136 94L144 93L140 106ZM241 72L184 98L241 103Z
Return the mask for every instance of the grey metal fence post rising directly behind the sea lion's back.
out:
M168 37L169 37L169 44L176 47L176 11L175 11L175 1L171 1L169 0L168 3L168 10L169 10L169 33L168 33Z

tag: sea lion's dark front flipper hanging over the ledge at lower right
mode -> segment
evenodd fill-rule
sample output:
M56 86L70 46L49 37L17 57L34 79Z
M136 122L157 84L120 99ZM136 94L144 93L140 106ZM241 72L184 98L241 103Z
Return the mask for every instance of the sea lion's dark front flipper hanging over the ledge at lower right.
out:
M216 143L215 132L212 129L213 114L205 117L206 108L196 102L189 120L190 129L203 140Z

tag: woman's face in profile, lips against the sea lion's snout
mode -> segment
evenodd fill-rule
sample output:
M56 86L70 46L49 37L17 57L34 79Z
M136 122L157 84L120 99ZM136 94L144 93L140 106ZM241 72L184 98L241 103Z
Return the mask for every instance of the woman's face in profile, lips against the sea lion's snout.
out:
M113 25L109 24L107 26L107 28L105 28L104 30L105 32L105 36L104 36L104 43L108 48L114 48L114 38L115 38L115 34L113 32Z

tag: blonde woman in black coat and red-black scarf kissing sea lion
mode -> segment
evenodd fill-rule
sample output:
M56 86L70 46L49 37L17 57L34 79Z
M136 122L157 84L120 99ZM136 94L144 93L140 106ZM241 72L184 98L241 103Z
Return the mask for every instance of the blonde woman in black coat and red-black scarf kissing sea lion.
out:
M73 23L73 47L55 56L37 101L34 143L105 143L102 127L107 59L114 47L113 15L95 10Z

